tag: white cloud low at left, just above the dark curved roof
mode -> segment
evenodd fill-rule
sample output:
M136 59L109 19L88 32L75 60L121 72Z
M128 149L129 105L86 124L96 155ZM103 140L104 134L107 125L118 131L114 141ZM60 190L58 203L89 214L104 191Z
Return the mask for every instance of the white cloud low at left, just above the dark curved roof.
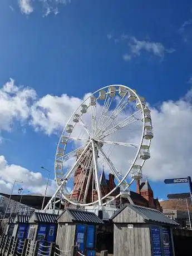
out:
M19 165L8 164L3 155L0 156L0 185L1 192L9 193L14 180L23 181L22 186L29 191L44 194L47 180L41 173L34 173ZM56 189L56 183L50 180L47 194L52 195Z

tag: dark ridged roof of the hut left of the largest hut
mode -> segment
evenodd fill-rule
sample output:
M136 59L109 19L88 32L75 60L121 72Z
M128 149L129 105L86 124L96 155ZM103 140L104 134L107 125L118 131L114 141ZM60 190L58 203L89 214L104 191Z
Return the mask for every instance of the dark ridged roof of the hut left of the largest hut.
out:
M83 222L83 223L94 223L103 224L103 221L95 214L90 211L67 209L72 216L73 221Z

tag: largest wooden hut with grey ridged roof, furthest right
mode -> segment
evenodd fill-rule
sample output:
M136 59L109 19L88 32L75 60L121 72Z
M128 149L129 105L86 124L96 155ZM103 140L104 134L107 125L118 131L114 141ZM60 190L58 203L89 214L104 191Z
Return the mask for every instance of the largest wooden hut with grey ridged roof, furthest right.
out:
M114 222L114 256L174 256L172 228L178 223L158 210L127 204Z

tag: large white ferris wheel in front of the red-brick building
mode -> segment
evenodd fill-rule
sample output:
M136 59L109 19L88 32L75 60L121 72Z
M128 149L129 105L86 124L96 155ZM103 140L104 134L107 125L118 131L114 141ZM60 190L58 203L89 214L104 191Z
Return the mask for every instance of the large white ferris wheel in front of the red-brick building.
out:
M57 190L45 209L61 201L106 205L142 178L153 137L144 97L125 85L87 96L62 131L55 157ZM109 179L107 176L109 175Z

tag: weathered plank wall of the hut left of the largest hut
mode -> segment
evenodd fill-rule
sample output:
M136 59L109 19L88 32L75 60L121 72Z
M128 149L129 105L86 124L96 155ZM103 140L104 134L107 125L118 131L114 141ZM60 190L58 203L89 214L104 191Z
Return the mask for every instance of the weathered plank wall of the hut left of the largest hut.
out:
M75 241L75 230L76 225L73 223L68 223L68 225L66 223L58 223L56 246L60 250L69 251L72 249Z

